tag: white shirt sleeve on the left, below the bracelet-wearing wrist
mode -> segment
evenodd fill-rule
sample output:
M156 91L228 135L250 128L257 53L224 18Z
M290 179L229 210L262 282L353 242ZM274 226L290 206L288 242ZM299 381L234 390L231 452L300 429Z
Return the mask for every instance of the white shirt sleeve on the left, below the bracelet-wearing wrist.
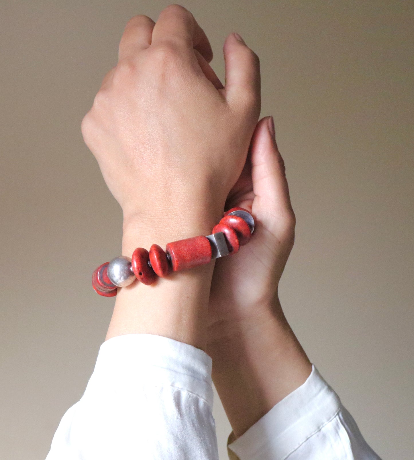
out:
M218 460L211 358L151 334L104 342L46 460Z

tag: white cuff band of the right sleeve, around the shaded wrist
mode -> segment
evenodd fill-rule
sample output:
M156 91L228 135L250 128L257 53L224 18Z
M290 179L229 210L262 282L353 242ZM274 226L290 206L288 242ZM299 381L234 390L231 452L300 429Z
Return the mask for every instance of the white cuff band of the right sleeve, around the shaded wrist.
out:
M312 365L305 383L277 403L235 441L230 434L230 459L282 460L321 430L341 409L338 395Z

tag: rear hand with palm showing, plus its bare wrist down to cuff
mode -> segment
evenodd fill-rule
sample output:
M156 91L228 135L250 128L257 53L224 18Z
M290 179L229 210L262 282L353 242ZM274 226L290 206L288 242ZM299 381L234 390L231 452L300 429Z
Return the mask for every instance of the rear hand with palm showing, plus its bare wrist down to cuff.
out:
M225 208L232 207L251 211L255 230L238 253L216 262L206 351L234 440L311 373L277 295L293 246L295 216L270 117L254 131Z

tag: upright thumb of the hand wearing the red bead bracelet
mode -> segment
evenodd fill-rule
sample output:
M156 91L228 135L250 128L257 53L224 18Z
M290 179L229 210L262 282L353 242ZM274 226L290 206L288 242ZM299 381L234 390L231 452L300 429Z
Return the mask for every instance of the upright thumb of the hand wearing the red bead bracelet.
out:
M259 57L247 47L238 34L224 42L225 97L229 104L260 109Z

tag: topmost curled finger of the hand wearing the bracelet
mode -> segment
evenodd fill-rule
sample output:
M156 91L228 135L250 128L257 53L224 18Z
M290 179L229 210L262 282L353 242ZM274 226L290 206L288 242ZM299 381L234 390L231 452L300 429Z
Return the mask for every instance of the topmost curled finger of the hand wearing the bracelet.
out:
M195 48L209 63L213 59L210 42L190 11L180 5L170 5L161 11L152 32L152 43L176 43Z

